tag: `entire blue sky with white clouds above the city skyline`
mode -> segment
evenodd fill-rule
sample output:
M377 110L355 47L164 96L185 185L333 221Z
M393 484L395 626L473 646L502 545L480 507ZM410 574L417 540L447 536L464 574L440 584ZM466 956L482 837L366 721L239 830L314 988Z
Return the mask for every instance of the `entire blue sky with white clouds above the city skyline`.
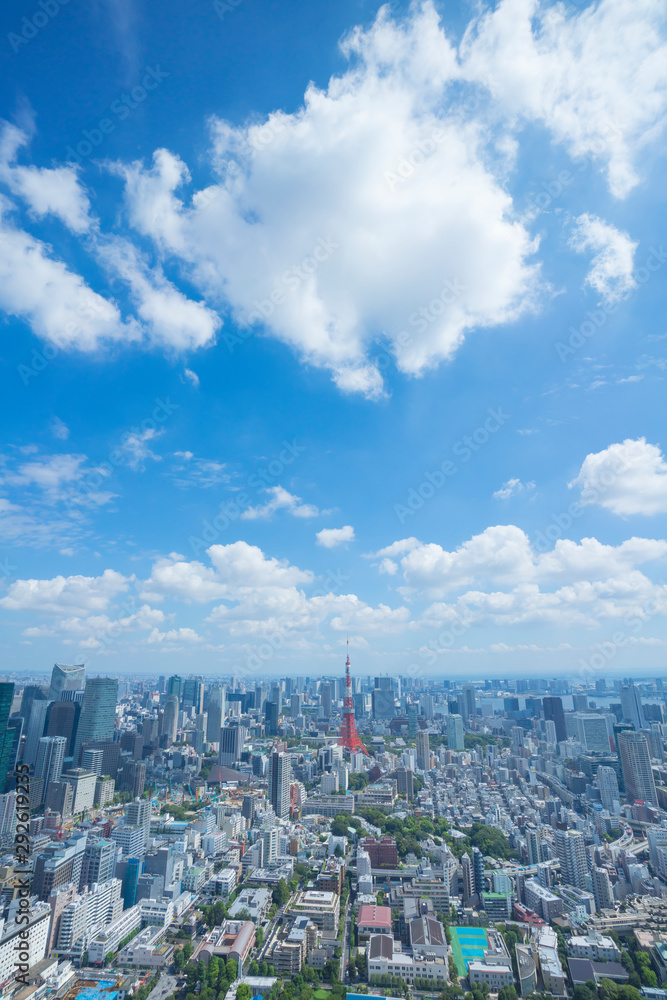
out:
M662 5L25 12L9 669L660 673Z

